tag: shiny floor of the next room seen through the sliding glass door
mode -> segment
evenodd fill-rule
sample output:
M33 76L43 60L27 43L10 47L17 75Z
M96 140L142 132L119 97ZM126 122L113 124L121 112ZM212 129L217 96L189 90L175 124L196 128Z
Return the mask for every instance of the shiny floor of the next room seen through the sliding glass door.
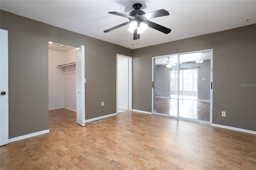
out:
M210 102L179 100L179 116L210 122ZM156 98L156 113L177 116L177 99Z

